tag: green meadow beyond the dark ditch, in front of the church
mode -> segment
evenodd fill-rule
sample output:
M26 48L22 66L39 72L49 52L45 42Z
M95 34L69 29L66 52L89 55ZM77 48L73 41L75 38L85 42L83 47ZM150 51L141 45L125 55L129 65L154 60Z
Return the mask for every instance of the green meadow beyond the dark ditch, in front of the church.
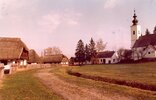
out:
M156 63L86 65L75 67L72 71L156 85Z

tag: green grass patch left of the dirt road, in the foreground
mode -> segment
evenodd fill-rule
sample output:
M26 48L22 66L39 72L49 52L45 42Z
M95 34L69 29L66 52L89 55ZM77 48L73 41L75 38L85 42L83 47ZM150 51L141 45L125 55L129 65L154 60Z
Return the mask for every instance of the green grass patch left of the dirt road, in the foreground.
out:
M8 75L0 89L2 100L59 100L33 73L35 70Z

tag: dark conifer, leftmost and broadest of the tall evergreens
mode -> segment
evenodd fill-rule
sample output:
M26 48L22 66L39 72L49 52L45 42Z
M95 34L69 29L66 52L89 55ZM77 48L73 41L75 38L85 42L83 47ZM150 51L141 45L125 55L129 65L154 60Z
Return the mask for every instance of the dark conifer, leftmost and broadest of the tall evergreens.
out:
M84 50L84 43L82 40L78 41L75 56L77 61L79 62L79 65L83 64L85 61L85 50Z

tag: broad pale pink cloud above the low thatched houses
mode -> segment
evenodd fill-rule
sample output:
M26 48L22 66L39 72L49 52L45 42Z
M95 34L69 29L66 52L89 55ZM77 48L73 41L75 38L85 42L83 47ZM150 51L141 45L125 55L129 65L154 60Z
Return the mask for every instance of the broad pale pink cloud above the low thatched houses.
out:
M41 31L52 33L54 30L59 28L59 26L75 26L78 24L78 19L81 14L74 13L72 11L64 12L51 12L49 14L43 15L38 20L38 25L41 27Z

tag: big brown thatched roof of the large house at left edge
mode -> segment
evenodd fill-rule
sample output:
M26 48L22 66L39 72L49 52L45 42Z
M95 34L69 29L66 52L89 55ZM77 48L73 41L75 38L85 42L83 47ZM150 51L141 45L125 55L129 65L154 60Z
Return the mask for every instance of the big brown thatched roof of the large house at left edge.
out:
M21 59L22 55L27 55L27 46L20 38L0 37L0 60Z

